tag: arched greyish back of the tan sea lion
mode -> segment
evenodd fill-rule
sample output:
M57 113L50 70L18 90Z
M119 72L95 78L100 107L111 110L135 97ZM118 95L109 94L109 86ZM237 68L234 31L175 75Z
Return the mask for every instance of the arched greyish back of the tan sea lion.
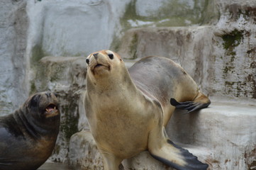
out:
M184 89L193 89L186 96L194 97L197 93L197 85L189 74L166 57L144 57L130 67L129 73L139 89L147 89L162 104L169 104L170 98L184 96Z

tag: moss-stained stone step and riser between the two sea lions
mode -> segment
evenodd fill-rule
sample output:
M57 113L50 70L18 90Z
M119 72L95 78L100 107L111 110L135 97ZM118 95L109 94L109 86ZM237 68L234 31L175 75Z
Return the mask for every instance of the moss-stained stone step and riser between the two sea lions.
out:
M40 60L33 91L53 91L60 101L61 123L51 161L67 162L69 139L79 130L88 129L83 96L87 74L85 57L43 57Z

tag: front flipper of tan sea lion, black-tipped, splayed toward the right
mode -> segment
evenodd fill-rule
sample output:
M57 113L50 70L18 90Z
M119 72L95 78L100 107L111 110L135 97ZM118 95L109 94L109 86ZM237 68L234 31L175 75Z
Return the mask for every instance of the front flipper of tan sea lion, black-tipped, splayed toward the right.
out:
M167 140L160 149L153 149L150 154L177 170L206 170L208 168L208 164L199 162L197 157L187 149L175 145L170 140Z

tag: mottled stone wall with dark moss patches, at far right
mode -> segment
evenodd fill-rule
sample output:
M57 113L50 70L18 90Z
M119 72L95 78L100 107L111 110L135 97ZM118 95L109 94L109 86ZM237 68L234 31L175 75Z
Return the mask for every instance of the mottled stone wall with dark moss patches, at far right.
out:
M215 94L256 98L256 1L219 1L211 69Z

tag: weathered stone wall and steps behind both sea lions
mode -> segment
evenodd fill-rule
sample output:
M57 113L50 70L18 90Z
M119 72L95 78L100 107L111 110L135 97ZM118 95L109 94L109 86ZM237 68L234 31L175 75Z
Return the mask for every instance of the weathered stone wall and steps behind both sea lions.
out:
M0 114L12 113L36 91L57 92L62 123L49 161L102 169L83 108L89 53L116 51L128 67L148 55L169 57L205 94L253 105L255 24L255 0L1 0ZM232 169L256 169L255 136L240 165L216 158L208 161L211 168L230 162ZM123 166L139 169L140 162L167 169L147 153Z

